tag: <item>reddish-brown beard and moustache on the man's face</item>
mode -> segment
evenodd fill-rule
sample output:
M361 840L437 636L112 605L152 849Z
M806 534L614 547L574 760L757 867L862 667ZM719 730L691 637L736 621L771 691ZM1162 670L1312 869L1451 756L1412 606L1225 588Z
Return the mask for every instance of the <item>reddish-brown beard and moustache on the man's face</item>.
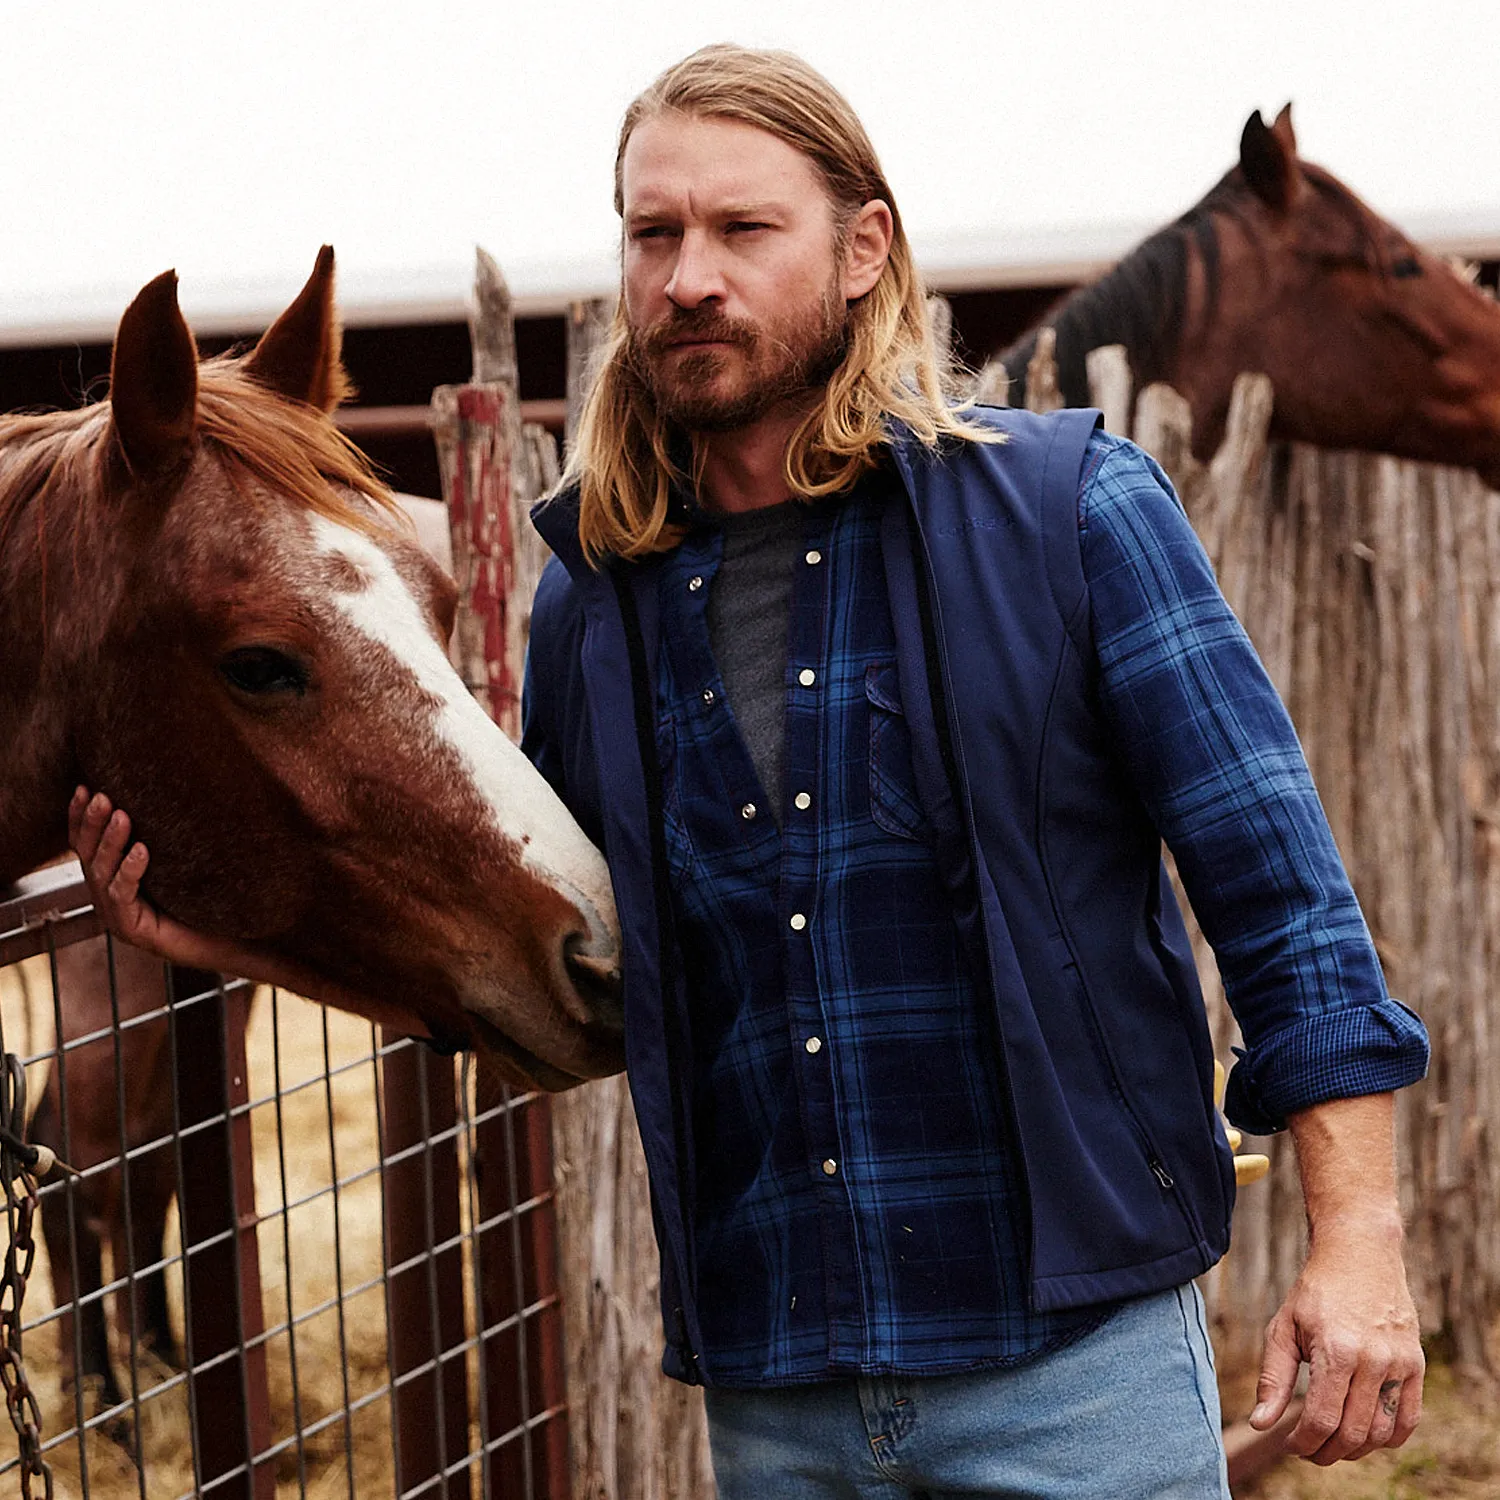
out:
M728 348L678 352L684 339ZM836 285L816 316L758 324L717 308L674 308L632 328L626 358L657 412L687 432L734 432L786 400L826 386L849 346L849 309Z

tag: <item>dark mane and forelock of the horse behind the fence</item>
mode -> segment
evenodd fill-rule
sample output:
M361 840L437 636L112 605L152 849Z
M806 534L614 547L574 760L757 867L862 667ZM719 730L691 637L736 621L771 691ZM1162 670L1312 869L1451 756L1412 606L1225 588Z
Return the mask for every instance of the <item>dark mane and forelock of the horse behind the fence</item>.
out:
M1352 254L1365 258L1372 250L1370 228L1347 189L1328 172L1300 164L1308 184L1341 210L1352 236ZM1238 219L1250 228L1257 202L1240 168L1226 172L1186 213L1158 230L1131 250L1112 272L1076 291L1059 309L1048 312L1018 344L1004 354L1010 375L1006 400L1026 402L1026 366L1036 351L1044 327L1058 334L1058 386L1070 406L1089 405L1089 350L1124 344L1130 351L1137 387L1164 378L1178 351L1188 300L1188 266L1197 254L1203 266L1206 310L1212 315L1220 297L1218 220Z

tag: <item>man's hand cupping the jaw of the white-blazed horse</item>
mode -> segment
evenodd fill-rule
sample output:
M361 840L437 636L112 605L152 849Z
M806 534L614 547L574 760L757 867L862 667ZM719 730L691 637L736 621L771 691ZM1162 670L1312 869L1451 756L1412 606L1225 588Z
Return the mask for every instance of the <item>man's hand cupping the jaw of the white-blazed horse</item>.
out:
M238 968L231 944L172 921L141 896L150 852L130 842L129 814L104 792L90 796L86 786L74 792L68 842L82 866L94 910L116 938L190 969Z

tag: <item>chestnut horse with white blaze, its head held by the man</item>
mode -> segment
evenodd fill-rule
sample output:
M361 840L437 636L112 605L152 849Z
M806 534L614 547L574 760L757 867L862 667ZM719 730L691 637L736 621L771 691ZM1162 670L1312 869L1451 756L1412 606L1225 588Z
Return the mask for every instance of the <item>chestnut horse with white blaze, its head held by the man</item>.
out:
M314 998L528 1084L615 1071L604 861L448 664L453 586L344 390L326 248L248 356L200 364L168 273L108 404L0 420L0 886L86 783L162 910Z

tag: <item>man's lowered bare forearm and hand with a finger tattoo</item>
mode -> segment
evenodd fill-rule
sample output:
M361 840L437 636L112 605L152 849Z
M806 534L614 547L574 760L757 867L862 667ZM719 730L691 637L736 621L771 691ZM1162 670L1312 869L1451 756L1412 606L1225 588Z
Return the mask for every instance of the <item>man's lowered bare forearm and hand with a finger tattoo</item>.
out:
M1314 1464L1400 1448L1422 1416L1416 1306L1401 1258L1390 1095L1338 1100L1292 1118L1308 1204L1306 1264L1266 1329L1251 1426L1286 1413L1305 1360L1287 1452Z

